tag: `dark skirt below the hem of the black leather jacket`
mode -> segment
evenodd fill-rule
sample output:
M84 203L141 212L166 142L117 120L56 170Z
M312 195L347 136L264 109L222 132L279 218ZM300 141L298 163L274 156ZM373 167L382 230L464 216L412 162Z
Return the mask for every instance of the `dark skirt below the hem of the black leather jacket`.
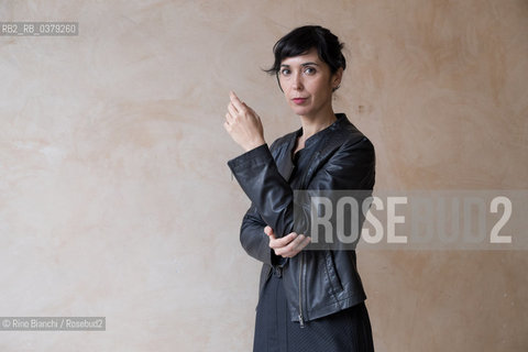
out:
M371 321L361 302L333 315L305 322L289 318L279 273L263 287L256 308L253 352L373 352Z

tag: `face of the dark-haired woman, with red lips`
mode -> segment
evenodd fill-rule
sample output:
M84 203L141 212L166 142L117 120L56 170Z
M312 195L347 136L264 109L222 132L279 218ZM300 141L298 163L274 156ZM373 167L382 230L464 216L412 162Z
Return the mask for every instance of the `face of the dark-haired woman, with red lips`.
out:
M332 75L316 48L280 63L278 81L286 101L298 116L317 117L332 111L332 89L339 86L342 68Z

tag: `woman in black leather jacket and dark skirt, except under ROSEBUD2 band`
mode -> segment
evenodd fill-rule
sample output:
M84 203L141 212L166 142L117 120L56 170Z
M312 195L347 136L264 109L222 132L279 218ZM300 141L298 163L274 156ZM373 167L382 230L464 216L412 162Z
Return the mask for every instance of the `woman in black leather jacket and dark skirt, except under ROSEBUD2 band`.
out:
M301 26L274 46L280 90L301 128L268 147L258 116L230 92L224 129L245 153L228 162L251 199L240 239L263 262L254 351L374 351L355 251L306 246L294 223L294 189L374 187L372 143L332 110L345 58L321 26ZM306 232L305 232L306 233Z

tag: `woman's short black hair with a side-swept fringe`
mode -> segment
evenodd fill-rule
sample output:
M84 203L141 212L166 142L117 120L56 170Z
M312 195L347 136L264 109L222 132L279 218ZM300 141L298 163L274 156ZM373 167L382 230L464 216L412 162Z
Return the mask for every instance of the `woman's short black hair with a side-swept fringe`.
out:
M276 75L280 72L280 63L286 57L302 55L312 47L317 50L319 58L330 67L334 74L340 67L346 68L346 61L341 52L344 44L329 30L320 25L299 26L282 38L273 46L275 63L264 72Z

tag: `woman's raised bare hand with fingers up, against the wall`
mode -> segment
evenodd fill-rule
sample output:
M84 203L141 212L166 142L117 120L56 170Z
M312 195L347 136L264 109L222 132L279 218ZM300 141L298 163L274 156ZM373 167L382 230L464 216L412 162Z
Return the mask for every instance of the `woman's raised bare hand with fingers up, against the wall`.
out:
M261 118L231 91L223 128L246 152L265 144Z

